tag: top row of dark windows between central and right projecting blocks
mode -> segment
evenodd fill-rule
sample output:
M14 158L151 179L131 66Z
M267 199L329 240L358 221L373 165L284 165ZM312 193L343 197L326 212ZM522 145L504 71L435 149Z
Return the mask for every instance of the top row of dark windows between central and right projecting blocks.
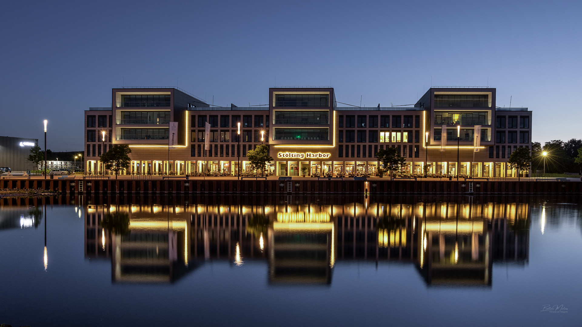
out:
M338 126L343 128L420 128L419 115L392 115L392 125L390 124L390 115L381 115L378 125L378 115L339 115Z

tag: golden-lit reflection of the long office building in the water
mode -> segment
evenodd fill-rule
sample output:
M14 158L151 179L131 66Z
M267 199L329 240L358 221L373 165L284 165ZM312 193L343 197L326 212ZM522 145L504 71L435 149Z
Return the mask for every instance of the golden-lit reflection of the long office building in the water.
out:
M210 260L267 260L272 285L329 285L338 262L368 260L409 262L427 285L490 286L494 262L527 264L528 204L360 200L87 205L86 257L110 258L115 282L173 282ZM125 233L101 227L115 212L129 216Z

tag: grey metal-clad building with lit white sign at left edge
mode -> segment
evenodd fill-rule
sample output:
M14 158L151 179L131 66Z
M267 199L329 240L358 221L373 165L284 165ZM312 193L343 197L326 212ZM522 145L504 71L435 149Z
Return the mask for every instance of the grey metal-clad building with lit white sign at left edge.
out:
M34 169L34 163L27 160L32 147L21 146L20 142L38 144L36 138L0 136L0 167L10 167L13 171Z

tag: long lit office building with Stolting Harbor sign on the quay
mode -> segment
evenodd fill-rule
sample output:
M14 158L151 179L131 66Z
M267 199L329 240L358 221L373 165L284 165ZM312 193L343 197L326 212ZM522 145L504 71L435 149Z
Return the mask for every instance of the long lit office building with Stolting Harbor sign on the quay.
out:
M413 106L342 107L331 87L275 87L268 106L218 107L178 88L113 89L113 108L85 112L86 170L100 172L98 156L128 144L130 172L236 175L239 157L249 172L247 152L267 144L269 172L278 176L375 175L375 156L388 147L406 159L406 173L427 166L435 174L516 176L507 161L516 148L531 149L531 111L496 107L495 92L433 87ZM169 122L178 122L171 148Z

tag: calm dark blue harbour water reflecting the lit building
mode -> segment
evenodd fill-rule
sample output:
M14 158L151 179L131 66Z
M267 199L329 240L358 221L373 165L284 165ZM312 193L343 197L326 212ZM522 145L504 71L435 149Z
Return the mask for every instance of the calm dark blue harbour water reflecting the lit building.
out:
M577 198L2 199L0 323L577 326L581 246Z

